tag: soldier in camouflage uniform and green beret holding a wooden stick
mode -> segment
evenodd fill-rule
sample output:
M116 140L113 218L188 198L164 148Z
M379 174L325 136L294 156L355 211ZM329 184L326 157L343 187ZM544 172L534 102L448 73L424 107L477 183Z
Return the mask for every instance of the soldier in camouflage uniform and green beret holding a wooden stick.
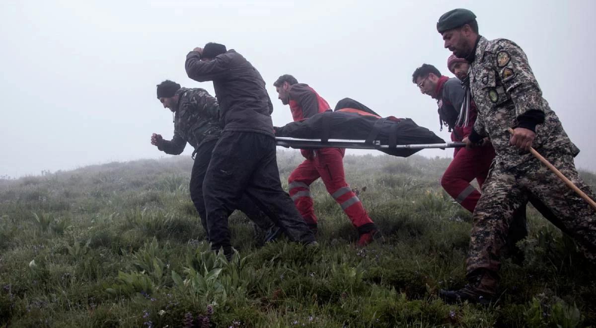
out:
M501 247L507 240L513 212L534 199L547 218L575 239L588 258L596 253L596 212L545 165L528 152L542 154L567 178L594 198L578 177L573 144L557 115L542 98L523 50L507 39L488 39L478 34L476 16L456 9L443 14L437 31L457 57L470 63L469 81L479 117L468 138L473 147L491 138L496 157L474 211L468 285L460 290L441 290L446 301L490 302L498 285ZM510 135L509 128L514 129Z

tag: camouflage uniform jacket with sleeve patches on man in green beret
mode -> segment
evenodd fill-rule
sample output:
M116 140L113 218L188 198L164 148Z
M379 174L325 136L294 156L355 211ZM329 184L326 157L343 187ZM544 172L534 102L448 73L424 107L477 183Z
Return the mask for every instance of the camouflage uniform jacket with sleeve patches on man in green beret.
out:
M510 146L508 128L519 126L520 115L536 110L544 112L544 123L536 125L532 147L538 152L557 149L573 156L579 153L555 112L542 98L526 54L517 44L507 39L489 41L480 36L469 74L478 109L474 132L491 138L497 163L513 168L532 158L529 152Z

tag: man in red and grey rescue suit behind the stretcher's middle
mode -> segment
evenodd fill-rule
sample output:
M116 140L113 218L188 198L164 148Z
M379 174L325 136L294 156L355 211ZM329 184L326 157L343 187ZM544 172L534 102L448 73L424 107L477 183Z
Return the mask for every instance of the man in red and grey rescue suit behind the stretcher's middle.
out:
M290 105L294 121L307 119L315 114L331 110L327 101L314 89L304 83L298 83L291 75L282 75L273 83L281 103ZM288 178L290 197L302 214L306 223L316 231L316 215L313 209L310 185L319 177L331 196L342 206L343 211L352 221L360 234L359 246L365 246L380 237L380 233L365 211L358 196L346 183L343 171L343 148L302 149L306 159Z

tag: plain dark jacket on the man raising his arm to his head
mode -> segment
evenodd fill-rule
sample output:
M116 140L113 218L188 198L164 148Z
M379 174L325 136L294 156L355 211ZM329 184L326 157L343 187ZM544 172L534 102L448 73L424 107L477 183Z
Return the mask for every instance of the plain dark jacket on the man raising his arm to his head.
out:
M187 55L188 77L213 81L224 131L259 132L273 137L273 105L260 73L233 49L213 60L201 61L198 52Z

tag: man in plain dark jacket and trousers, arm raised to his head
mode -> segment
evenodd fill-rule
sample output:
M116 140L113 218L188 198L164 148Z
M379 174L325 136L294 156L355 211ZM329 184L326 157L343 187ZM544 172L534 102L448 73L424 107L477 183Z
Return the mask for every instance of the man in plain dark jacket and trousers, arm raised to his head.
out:
M281 188L277 168L273 105L260 73L241 54L209 43L187 55L188 77L213 81L224 131L213 150L203 185L212 249L232 255L228 216L246 193L269 218L299 231L295 242L316 245L315 236Z

